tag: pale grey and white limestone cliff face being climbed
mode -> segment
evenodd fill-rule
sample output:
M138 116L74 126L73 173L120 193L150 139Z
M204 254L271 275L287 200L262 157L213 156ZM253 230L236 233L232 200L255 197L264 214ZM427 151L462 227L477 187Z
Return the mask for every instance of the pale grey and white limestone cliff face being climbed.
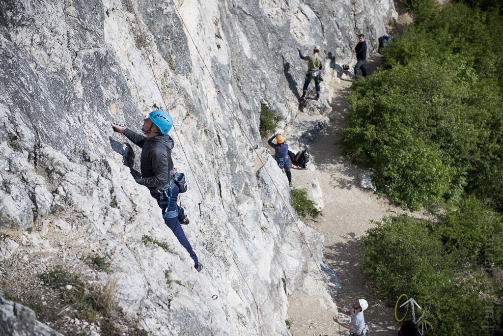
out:
M322 283L322 240L294 214L262 145L260 104L309 146L328 120L329 81L355 61L356 34L371 52L393 16L391 0L0 1L0 281L63 265L112 286L152 335L289 334L287 295ZM295 46L309 54L313 44L323 99L298 111L306 64ZM175 120L201 274L134 182L140 149L110 127L138 132L154 109ZM108 274L85 262L92 254L109 256ZM330 301L319 287L309 295Z

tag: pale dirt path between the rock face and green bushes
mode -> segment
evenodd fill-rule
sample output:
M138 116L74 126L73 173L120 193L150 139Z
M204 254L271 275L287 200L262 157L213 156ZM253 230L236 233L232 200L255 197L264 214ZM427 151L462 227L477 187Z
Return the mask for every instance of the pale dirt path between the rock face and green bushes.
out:
M379 60L379 56L374 56L367 62L369 73ZM349 308L356 299L367 299L369 308L365 311L365 320L371 334L396 335L399 325L394 320L393 307L386 306L369 286L363 284L358 255L362 251L360 237L374 226L371 220L403 211L373 191L359 188L358 173L363 171L342 156L336 144L346 123L343 113L348 107L351 83L341 80L333 85L337 96L332 101L330 124L311 150L316 166L313 174L323 191L324 209L321 218L305 222L324 236L323 261L338 274L342 283L342 289L336 293L338 305ZM294 186L308 188L309 181L302 174L305 172L296 173L293 172ZM294 336L339 335L339 327L332 321L337 312L323 307L316 298L299 299L301 296L292 293L289 299L290 332ZM345 328L341 327L341 331L343 335L349 334Z

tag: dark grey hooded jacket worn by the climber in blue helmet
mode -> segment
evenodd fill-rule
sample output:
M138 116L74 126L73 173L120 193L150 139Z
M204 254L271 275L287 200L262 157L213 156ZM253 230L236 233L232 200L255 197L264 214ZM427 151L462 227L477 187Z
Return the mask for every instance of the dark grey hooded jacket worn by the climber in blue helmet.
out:
M173 160L171 150L175 141L169 135L157 135L147 138L126 128L124 135L135 145L141 147L140 171L141 178L135 181L148 187L152 196L171 180Z

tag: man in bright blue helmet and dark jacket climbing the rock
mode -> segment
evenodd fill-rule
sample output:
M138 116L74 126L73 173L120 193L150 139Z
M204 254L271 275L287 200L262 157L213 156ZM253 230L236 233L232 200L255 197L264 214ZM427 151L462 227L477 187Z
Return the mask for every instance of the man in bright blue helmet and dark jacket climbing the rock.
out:
M196 253L180 226L179 207L177 205L179 188L172 178L173 160L171 150L175 146L173 138L167 134L173 126L173 119L164 111L156 110L143 119L141 135L130 129L112 124L114 132L124 134L135 145L141 147L140 170L141 178L135 181L148 187L150 195L155 198L162 209L164 223L173 231L178 241L187 249L194 260L194 268L201 272L203 265L199 263Z

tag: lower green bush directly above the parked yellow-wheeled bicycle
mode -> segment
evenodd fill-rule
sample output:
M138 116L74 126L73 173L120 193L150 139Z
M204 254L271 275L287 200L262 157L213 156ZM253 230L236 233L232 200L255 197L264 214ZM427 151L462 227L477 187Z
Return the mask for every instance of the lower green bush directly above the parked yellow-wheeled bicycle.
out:
M501 287L481 269L483 264L463 263L464 247L458 249L452 240L444 243L436 230L432 222L405 215L378 222L362 238L365 276L390 303L402 292L419 293L415 299L426 309L434 334L495 334Z

